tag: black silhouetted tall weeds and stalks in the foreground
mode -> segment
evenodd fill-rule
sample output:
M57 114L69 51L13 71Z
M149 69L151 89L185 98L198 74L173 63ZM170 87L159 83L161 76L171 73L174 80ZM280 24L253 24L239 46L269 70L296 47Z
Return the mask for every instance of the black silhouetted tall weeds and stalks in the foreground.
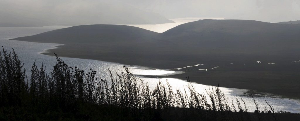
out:
M22 60L13 51L0 53L0 120L278 120L256 105L254 113L241 97L228 102L218 87L196 92L188 81L187 90L173 90L167 82L149 88L124 66L121 73L110 72L110 80L97 71L70 67L56 54L50 74L42 65L32 65L26 77ZM239 100L242 100L239 102ZM235 105L237 106L235 106Z

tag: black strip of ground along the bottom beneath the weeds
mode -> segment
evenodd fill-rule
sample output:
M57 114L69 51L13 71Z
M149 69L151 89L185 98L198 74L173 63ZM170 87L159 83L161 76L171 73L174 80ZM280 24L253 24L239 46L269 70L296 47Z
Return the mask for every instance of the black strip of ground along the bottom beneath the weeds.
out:
M245 113L231 111L207 111L191 108L132 109L114 105L84 104L75 111L49 110L41 113L31 108L0 108L1 120L49 120L49 121L298 121L300 114Z

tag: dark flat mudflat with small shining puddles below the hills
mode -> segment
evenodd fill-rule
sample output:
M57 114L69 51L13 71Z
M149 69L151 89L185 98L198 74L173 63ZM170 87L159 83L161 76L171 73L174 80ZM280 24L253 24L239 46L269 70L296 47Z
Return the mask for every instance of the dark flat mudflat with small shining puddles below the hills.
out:
M300 62L280 61L276 64L268 64L268 62L265 61L257 63L255 60L249 60L244 62L226 61L215 63L209 62L208 59L202 59L202 62L196 63L195 61L188 61L188 57L182 57L179 63L178 59L174 60L174 58L168 56L164 58L138 58L134 52L131 52L132 55L125 53L118 55L114 52L101 53L99 51L97 54L93 54L91 51L84 51L87 48L76 48L80 50L76 51L73 50L72 47L67 47L67 45L58 46L58 48L48 50L47 53L43 54L53 56L54 53L57 53L61 57L94 59L100 61L118 62L124 65L140 65L150 68L171 70L174 68L183 68L186 66L204 64L191 68L174 70L183 71L185 73L170 75L168 77L183 80L186 80L186 77L189 77L192 82L204 85L217 86L219 84L220 87L249 89L258 92L278 94L282 95L283 97L293 99L300 99L300 71L298 68L300 67ZM90 54L97 56L90 56ZM106 57L106 54L115 56ZM203 58L205 58L205 56L203 56ZM148 62L145 60L151 61ZM213 67L218 68L207 71L199 70L210 69Z

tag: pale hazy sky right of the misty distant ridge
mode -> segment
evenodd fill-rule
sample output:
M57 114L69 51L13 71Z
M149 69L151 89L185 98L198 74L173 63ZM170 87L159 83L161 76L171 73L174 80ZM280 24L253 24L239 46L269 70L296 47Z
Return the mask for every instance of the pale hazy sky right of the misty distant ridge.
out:
M300 0L119 0L167 18L221 17L264 22L300 20Z

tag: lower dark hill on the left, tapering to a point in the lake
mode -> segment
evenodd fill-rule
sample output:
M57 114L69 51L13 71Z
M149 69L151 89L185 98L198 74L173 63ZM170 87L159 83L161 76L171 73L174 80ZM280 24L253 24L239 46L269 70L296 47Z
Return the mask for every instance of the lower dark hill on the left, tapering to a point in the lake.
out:
M80 25L40 33L34 36L18 37L14 40L45 43L117 43L135 41L155 36L158 33L126 25Z

